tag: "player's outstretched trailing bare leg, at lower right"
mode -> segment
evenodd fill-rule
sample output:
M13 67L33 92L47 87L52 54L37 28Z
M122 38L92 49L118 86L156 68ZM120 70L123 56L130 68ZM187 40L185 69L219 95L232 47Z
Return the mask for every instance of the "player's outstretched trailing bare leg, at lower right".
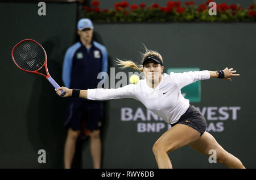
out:
M212 135L210 135L209 132L205 131L198 140L188 145L208 157L211 155L209 154L209 150L216 150L217 162L224 164L228 168L245 168L242 162L232 154L226 152L226 150L217 143L217 141Z

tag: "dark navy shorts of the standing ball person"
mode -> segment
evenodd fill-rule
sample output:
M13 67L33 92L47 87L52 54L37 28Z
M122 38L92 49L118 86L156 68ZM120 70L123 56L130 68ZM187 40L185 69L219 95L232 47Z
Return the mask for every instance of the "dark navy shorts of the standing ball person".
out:
M71 127L74 131L100 129L103 110L102 102L74 101L71 99L68 103L64 125Z

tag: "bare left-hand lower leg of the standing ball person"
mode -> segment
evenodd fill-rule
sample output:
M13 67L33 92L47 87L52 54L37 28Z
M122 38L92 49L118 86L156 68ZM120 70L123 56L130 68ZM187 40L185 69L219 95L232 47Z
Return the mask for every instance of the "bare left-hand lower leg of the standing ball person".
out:
M72 160L76 149L76 140L80 131L73 131L72 128L68 129L68 135L64 146L64 168L70 169Z

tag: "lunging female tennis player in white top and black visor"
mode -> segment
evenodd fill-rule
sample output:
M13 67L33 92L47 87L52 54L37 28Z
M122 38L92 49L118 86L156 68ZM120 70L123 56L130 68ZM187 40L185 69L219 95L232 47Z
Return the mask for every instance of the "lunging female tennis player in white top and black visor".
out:
M117 61L122 68L134 68L145 74L144 79L137 84L130 84L117 89L88 89L77 90L59 87L56 93L61 97L61 91L66 92L64 97L80 97L92 100L109 100L121 98L133 98L142 102L148 110L163 118L172 125L168 131L155 142L152 150L155 155L158 168L172 168L168 153L184 145L200 153L210 156L209 150L216 150L217 162L228 168L245 168L242 162L232 154L226 152L210 133L205 131L207 127L204 116L195 106L189 104L189 100L181 95L181 88L190 83L209 79L224 78L232 81L230 77L240 76L233 68L225 68L217 71L195 71L185 73L163 74L163 58L155 51L148 50L142 54L142 65L136 65L133 61Z

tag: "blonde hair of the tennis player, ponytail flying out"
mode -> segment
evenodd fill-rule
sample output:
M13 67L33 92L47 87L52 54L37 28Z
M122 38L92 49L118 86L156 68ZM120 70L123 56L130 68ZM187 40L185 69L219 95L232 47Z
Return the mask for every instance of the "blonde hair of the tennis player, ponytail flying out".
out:
M141 65L137 65L135 62L130 61L130 60L124 60L124 61L119 60L118 58L115 61L116 64L121 66L120 69L133 68L135 70L138 70L139 72L143 72L142 62L143 62L145 57L147 57L147 56L156 56L156 57L160 58L160 60L163 62L163 58L158 52L147 49L147 47L145 45L144 45L144 48L145 48L145 52L144 53L140 52L141 53L141 58L142 58Z

